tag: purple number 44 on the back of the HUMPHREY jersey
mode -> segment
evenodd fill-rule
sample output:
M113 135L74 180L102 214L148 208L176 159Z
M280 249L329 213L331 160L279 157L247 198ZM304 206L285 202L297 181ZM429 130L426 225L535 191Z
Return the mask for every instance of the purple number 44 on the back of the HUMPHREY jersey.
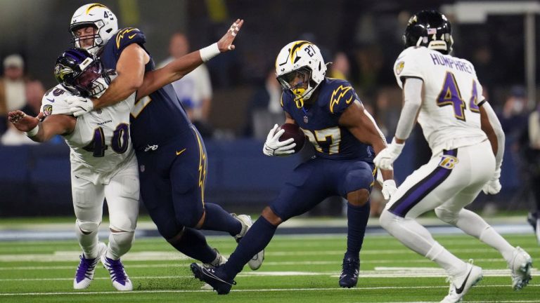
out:
M469 100L469 109L471 112L480 112L477 103L478 90L476 89L476 81L473 80L473 91L471 92ZM465 121L465 101L461 98L461 92L456 83L456 77L454 77L454 74L451 72L446 72L444 85L442 86L441 93L439 93L439 97L437 97L437 105L439 105L439 107L452 105L452 107L454 107L454 116L456 119Z

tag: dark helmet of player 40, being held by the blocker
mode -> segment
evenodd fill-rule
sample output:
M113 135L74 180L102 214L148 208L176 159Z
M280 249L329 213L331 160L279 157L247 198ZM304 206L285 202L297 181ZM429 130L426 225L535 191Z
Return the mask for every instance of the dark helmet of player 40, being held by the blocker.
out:
M110 83L101 60L82 48L65 50L56 59L54 76L70 93L83 97L102 93Z

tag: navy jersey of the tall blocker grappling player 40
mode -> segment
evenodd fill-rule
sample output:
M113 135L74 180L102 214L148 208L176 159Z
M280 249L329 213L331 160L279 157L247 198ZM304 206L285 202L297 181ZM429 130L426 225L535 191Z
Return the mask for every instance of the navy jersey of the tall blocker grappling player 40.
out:
M100 58L108 69L116 69L122 50L131 43L144 48L146 37L134 27L120 29L103 47ZM146 50L146 48L144 48ZM148 53L148 50L146 50ZM150 55L150 53L148 53ZM145 66L145 72L155 69L154 61ZM190 130L191 122L181 107L174 88L170 84L143 97L131 111L131 140L136 150L164 144L173 137Z

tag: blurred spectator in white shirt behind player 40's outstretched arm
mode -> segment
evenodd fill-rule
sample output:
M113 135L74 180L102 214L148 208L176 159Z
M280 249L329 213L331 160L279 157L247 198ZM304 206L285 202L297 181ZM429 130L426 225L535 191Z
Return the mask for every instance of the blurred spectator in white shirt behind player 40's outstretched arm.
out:
M164 67L169 62L190 51L189 41L185 34L176 32L169 41L170 57L160 63ZM180 102L186 109L188 118L198 128L203 137L211 137L212 129L208 123L212 105L212 83L205 65L200 65L184 78L172 83Z

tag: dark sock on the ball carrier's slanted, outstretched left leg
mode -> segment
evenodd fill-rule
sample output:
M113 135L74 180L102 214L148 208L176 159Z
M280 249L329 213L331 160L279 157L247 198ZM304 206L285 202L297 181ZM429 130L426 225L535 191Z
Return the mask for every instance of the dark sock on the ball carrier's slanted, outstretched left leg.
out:
M264 217L259 217L252 225L248 234L240 240L236 250L229 257L223 269L227 276L233 279L250 259L263 250L276 232L276 226L268 222Z

